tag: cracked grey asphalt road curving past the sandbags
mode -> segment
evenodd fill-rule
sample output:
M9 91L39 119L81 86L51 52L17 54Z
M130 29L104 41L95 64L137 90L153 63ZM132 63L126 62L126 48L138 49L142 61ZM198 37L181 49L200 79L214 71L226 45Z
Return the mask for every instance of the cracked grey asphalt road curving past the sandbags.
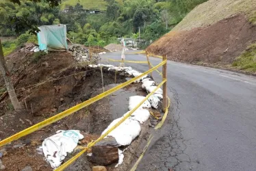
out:
M105 57L119 59L120 53ZM154 66L160 61L151 59ZM256 170L255 77L170 61L167 70L172 109L138 170ZM156 72L153 77L162 80Z

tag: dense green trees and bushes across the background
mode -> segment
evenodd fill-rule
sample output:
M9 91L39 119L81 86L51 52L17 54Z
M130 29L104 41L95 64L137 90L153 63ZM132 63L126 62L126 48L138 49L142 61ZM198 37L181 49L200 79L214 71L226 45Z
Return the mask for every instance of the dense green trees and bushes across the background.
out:
M207 0L66 0L53 7L47 1L55 2L0 3L0 36L18 37L3 44L5 55L25 42L36 42L36 36L32 35L39 31L38 26L60 23L67 26L67 36L74 43L104 47L118 42L120 37L139 38L140 30L140 39L146 40L142 47L146 47ZM85 10L96 8L105 11L89 14Z

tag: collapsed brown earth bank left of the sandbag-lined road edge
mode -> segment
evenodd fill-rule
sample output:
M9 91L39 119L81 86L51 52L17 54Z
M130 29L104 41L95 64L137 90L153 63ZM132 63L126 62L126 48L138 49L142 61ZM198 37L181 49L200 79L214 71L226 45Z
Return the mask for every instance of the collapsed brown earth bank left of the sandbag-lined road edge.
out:
M78 64L72 55L66 52L39 54L39 56L35 62L35 53L30 53L24 49L8 56L8 67L12 72L12 80L15 82L14 88L18 94L18 100L23 106L23 111L16 112L10 109L8 95L2 99L0 103L2 109L0 140L103 92L99 68ZM116 78L115 75L115 72L103 67L105 90L112 88L108 85L112 85L115 80L116 83L127 80L127 75L124 73L118 72ZM1 84L4 84L3 80L1 80ZM140 83L133 83L120 92L127 92L132 95L145 94ZM112 94L71 116L4 146L4 149L0 148L0 151L5 151L1 157L5 170L22 170L26 166L30 166L33 170L52 170L51 166L44 161L44 156L36 151L42 141L46 137L54 135L57 130L77 129L86 135L87 139L91 138L82 141L81 145L86 145L97 135L101 135L110 122L116 119L116 116L112 114L114 110L111 109L114 107L112 106L114 98L116 95ZM128 111L127 105L124 105L126 103L125 101L120 105ZM154 120L152 117L151 119ZM148 135L149 124L145 123L142 127L142 135L134 141L125 153L122 170L129 166L131 159L138 157L138 155L133 155L133 151L140 153L138 144L146 141L144 137ZM95 136L88 137L88 133ZM78 151L69 154L65 161L76 153ZM91 168L92 163L87 160L85 154L67 170L90 170ZM114 165L108 168L112 170Z

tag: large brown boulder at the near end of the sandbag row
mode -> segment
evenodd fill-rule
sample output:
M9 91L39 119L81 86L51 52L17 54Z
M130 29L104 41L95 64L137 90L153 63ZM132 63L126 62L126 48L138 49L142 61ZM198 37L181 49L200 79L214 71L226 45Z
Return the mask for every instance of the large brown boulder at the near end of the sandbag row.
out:
M114 146L93 146L90 161L102 166L117 162L119 159L118 148Z

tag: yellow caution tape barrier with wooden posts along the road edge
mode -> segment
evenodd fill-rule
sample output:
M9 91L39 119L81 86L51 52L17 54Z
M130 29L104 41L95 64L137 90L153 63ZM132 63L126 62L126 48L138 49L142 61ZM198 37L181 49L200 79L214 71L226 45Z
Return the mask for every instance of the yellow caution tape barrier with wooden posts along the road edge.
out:
M66 116L70 116L71 114L73 114L75 111L78 111L80 109L83 109L84 107L87 107L88 105L99 101L101 98L104 98L105 96L109 96L110 94L116 92L116 90L120 90L121 88L124 88L125 86L128 86L130 83L133 83L135 81L137 81L138 79L144 77L145 75L148 75L149 73L152 73L153 70L157 70L157 68L159 68L159 66L163 66L163 81L162 83L159 83L159 85L150 93L148 94L135 108L133 108L131 111L129 111L129 113L127 115L125 115L121 120L119 120L119 122L117 122L111 129L109 129L107 132L105 132L103 135L101 135L101 137L99 137L97 140L94 140L92 142L90 142L85 148L84 150L81 150L80 153L78 153L77 155L75 155L74 157L72 157L71 159L69 159L68 161L66 161L66 163L62 164L62 166L60 166L59 168L55 169L55 170L64 170L65 168L67 168L69 165L71 165L71 163L73 163L76 159L78 159L81 155L83 155L84 153L86 153L86 151L88 150L88 148L91 148L92 146L94 146L95 144L97 144L97 142L100 142L104 137L106 137L111 131L113 131L114 129L116 129L116 127L118 127L120 124L122 124L127 118L129 118L131 116L131 114L133 114L134 111L136 111L136 109L138 109L150 96L153 95L154 92L156 92L161 86L163 86L163 111L164 116L162 118L162 120L159 122L159 124L157 124L157 126L155 127L155 129L159 129L162 127L162 125L164 124L164 120L166 120L167 114L168 114L168 107L170 107L170 98L167 99L167 94L166 94L166 65L167 65L167 59L166 59L166 55L164 55L162 57L162 62L160 62L159 64L157 64L157 66L153 67L152 65L149 65L149 70L147 70L145 73L142 73L142 75L139 75L138 77L134 77L133 79L130 79L129 81L126 81L125 83L121 83L120 85L116 86L115 88L112 88L110 90L107 90L106 92L103 92L101 94L99 94L98 96L95 96L93 98L90 98L88 101L85 101L83 103L80 103L78 105L75 105L74 107L71 107L70 109L66 109L65 111L62 111L60 114L57 114L55 116L52 116L51 118L48 118L47 120L44 120L42 122L39 122L38 124L34 124L33 126L18 132L8 138L6 138L5 140L2 140L0 142L0 147L4 146L14 140L18 140L19 138L28 135L29 133L33 133L34 131L37 131L38 129L42 129L43 127L47 127L49 124L52 124L53 122L57 122L58 120L61 120L62 118L65 118ZM143 63L148 63L149 62L149 57L147 57L148 62L143 62ZM115 60L116 62L119 62L118 60ZM121 61L122 62L122 61ZM125 62L125 61L124 61ZM126 62L131 62L131 61L126 61ZM132 61L132 63L139 63L142 64L142 62L134 62ZM152 67L152 68L151 68ZM168 100L168 105L167 105L167 100ZM149 143L151 142L152 137L149 141ZM147 144L147 147L149 146L149 143ZM147 148L146 147L146 148ZM144 149L144 151L146 150L146 148ZM144 152L143 152L144 154Z

